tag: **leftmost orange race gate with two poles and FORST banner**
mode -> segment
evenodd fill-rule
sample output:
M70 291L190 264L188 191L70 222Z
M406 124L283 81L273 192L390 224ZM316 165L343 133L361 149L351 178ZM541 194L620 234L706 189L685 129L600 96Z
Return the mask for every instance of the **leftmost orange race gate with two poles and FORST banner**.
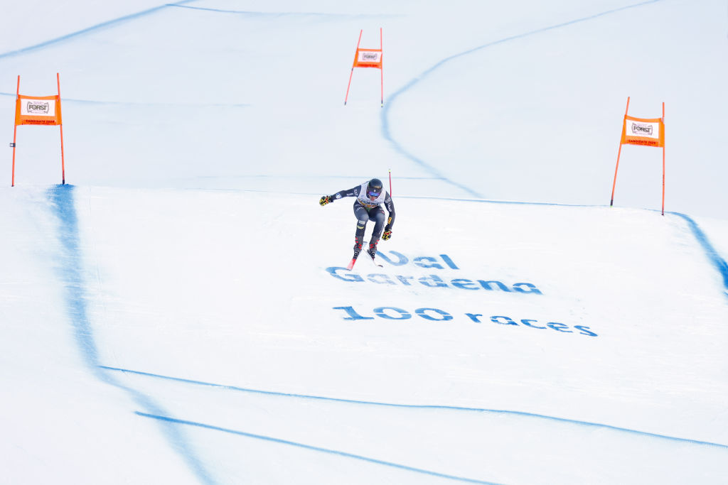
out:
M58 125L60 127L61 183L66 183L66 161L63 158L63 121L60 116L60 76L55 73L58 95L25 96L20 94L20 76L17 76L15 92L15 128L12 134L12 186L15 187L15 145L17 127L23 124Z

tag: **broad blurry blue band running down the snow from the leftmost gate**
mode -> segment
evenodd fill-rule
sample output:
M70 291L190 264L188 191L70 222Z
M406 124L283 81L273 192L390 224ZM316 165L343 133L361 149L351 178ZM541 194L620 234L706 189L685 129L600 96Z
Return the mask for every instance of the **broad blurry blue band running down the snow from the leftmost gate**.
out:
M84 363L101 382L113 385L130 394L133 400L150 412L165 414L165 410L158 406L149 396L128 388L115 379L111 372L98 365L98 348L94 339L93 329L88 316L87 291L82 272L82 249L79 236L79 221L74 204L74 185L55 185L47 193L53 214L58 217L58 241L61 251L56 268L60 283L64 289L66 300L66 313L74 329L74 338ZM213 485L215 481L205 470L205 466L192 451L186 438L172 425L162 425L162 433L176 452L181 455L184 462L194 472L200 482Z

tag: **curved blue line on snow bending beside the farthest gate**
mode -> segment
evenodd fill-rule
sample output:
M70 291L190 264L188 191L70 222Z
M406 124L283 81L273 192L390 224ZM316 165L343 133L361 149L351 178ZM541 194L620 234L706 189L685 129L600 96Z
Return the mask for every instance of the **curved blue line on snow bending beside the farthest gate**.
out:
M575 20L569 20L568 22L563 22L563 23L559 23L559 24L556 24L556 25L550 25L548 27L538 28L538 29L536 29L534 31L529 31L529 32L525 32L525 33L519 33L519 34L516 34L515 36L505 37L504 39L499 39L499 40L496 40L496 41L491 41L491 42L488 42L487 44L483 44L483 45L480 45L478 47L473 47L472 49L468 49L468 50L466 50L464 52L459 52L458 54L451 55L450 57L446 57L445 59L440 60L438 63L435 63L435 65L433 65L431 68L429 68L426 71L424 71L419 76L416 76L414 79L411 79L411 81L409 81L403 87L400 87L400 89L397 89L397 91L393 92L392 95L389 96L389 100L387 100L387 103L384 104L384 107L383 107L384 109L381 111L381 133L382 133L382 136L384 137L385 140L389 141L389 143L392 145L392 148L394 148L395 151L397 151L398 153L400 153L401 155L403 155L405 158L410 159L411 161L414 161L416 164L418 164L420 167L426 169L427 172L430 172L432 175L434 175L438 179L442 180L445 183L448 183L450 185L453 185L456 188L461 189L465 193L469 193L471 196L475 196L475 197L477 197L479 199L484 199L483 196L481 196L478 192L472 190L472 188L469 188L466 185L463 185L461 183L457 183L454 180L450 180L448 177L446 177L445 175L443 175L443 173L440 172L438 169L435 169L435 167L432 167L432 165L427 164L426 161L420 159L419 157L414 156L413 153L410 153L407 150L405 150L405 148L400 143L397 143L397 141L394 139L394 137L392 137L392 132L389 129L389 110L392 108L392 104L395 103L395 100L397 100L397 97L399 97L403 92L406 92L409 89L411 89L412 87L414 87L417 83L419 83L419 81L422 81L422 80L426 79L427 76L430 76L430 74L432 74L434 71L438 70L438 68L441 68L446 63L450 62L451 60L457 59L458 57L463 57L463 56L472 54L473 52L477 52L477 51L479 51L481 49L486 49L488 47L493 47L493 46L498 45L498 44L505 44L506 42L513 41L513 40L516 40L516 39L523 39L524 37L533 36L533 35L535 35L537 33L543 33L543 32L547 32L547 31L553 31L555 29L563 28L563 27L566 27L568 25L574 25L574 24L577 24L577 23L586 22L587 20L593 20L593 19L598 18L598 17L604 17L605 15L611 15L611 14L614 14L616 12L620 12L622 10L633 9L635 7L641 7L641 6L646 5L646 4L654 4L657 1L661 1L661 0L642 1L642 2L640 2L638 4L627 5L625 7L619 7L617 9L607 10L606 12L599 12L597 14L589 15L587 17L581 17L581 18L578 18L578 19L575 19Z

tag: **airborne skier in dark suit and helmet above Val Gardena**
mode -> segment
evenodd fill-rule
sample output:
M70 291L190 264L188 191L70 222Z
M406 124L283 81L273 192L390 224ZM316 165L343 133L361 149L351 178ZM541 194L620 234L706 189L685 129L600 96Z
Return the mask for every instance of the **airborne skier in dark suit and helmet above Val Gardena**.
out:
M325 206L336 199L341 199L341 197L356 197L354 215L357 217L357 231L354 239L354 257L352 262L349 263L349 269L351 269L362 250L364 231L368 221L374 221L374 231L371 233L371 241L369 241L369 248L367 249L367 254L372 260L376 255L376 244L379 242L379 237L381 236L384 241L392 237L392 225L395 223L395 204L392 203L392 197L389 196L389 193L384 191L384 185L378 178L373 178L362 185L350 188L348 191L340 191L331 196L322 196L319 199L319 204ZM384 225L384 209L381 208L381 204L384 204L389 212L387 225ZM384 233L382 233L382 226L384 226Z

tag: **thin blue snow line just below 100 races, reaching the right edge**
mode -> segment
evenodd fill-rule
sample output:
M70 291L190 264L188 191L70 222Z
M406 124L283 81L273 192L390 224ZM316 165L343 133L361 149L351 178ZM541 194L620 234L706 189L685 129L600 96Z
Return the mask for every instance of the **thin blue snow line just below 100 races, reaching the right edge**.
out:
M227 389L227 390L234 390L234 391L242 392L242 393L262 394L264 396L281 396L281 397L286 397L286 398L312 399L312 400L317 400L317 401L339 402L339 403L346 403L346 404L361 404L361 405L365 405L365 406L387 406L387 407L395 407L395 408L403 408L403 409L433 409L433 410L445 410L445 411L478 412L478 413L489 413L489 414L510 414L513 416L534 417L534 418L538 418L541 420L566 422L566 423L569 423L572 425L589 426L591 428L604 428L604 429L609 429L609 430L616 430L616 431L621 431L623 433L632 433L632 434L636 434L639 436L649 436L651 438L667 439L670 441L678 441L681 443L699 444L699 445L703 445L703 446L715 446L718 448L728 449L728 445L719 444L719 443L711 443L710 441L698 441L698 440L688 439L688 438L676 438L675 436L667 436L667 435L661 435L661 434L657 434L657 433L646 433L645 431L632 430L629 428L620 428L618 426L603 425L598 422L569 420L569 419L563 418L563 417L547 416L545 414L534 414L531 412L509 411L506 409L484 409L484 408L464 407L464 406L443 406L443 405L433 405L433 404L393 404L393 403L384 403L384 402L376 402L376 401L357 401L354 399L330 398L330 397L323 397L323 396L307 396L305 394L290 394L290 393L280 393L280 392L275 392L275 391L270 391L270 390L239 388L234 385L220 385L220 384L214 384L211 382L203 382L203 381L199 381L199 380L183 379L181 377L170 377L170 376L159 375L159 374L151 374L149 372L133 371L133 370L129 370L129 369L119 369L118 367L109 367L109 366L100 366L100 367L102 369L106 369L108 371L124 372L124 373L128 373L128 374L137 374L137 375L142 375L142 376L146 376L146 377L155 377L157 379L171 380L171 381L175 381L175 382L183 382L186 384L202 385L202 386L206 386L206 387L210 387L210 388L221 388L221 389Z

